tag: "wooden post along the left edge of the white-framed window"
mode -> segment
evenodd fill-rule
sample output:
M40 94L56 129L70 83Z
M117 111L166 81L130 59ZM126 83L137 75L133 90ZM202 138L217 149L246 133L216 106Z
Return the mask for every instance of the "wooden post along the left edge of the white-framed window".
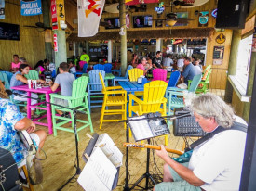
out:
M236 75L236 62L238 55L238 47L241 40L241 30L234 30L232 35L229 63L228 63L228 75ZM227 103L232 102L233 87L227 80L224 101Z

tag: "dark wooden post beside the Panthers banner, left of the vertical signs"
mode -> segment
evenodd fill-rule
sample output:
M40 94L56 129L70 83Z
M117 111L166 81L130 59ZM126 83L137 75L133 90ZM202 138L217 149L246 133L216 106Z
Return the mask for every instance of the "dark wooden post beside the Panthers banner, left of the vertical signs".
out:
M46 27L50 27L50 18L49 18L50 4L49 4L49 1L42 1L42 8L43 8L44 25ZM46 58L50 59L50 61L52 61L52 58L53 58L51 44L52 44L51 42L45 42Z

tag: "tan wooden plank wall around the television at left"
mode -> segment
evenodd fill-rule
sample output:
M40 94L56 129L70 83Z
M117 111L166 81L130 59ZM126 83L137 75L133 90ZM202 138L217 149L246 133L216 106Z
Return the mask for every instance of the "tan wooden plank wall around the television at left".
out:
M15 1L16 4L20 2ZM34 28L27 28L24 25L33 25L43 21L40 16L21 16L20 6L8 4L6 2L6 19L1 22L20 25L20 41L0 40L0 68L9 70L12 56L18 54L26 57L28 63L33 67L40 59L45 59L45 37L44 32L38 32Z

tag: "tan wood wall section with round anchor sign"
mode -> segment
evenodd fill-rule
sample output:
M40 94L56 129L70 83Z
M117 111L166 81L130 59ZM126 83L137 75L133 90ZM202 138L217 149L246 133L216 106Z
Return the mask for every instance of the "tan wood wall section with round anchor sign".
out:
M226 40L223 44L218 44L215 39L220 34L223 33ZM215 32L210 38L208 38L207 45L207 57L206 65L212 65L212 72L209 77L209 88L212 89L225 89L230 55L230 46L232 40L232 31L229 32ZM224 46L224 56L222 60L222 65L213 65L213 49L214 46Z

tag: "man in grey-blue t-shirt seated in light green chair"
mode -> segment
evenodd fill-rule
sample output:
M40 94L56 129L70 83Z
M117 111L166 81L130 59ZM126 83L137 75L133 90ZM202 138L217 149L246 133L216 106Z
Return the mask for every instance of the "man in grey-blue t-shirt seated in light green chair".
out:
M74 75L69 73L69 66L66 62L62 62L59 66L60 73L57 75L55 82L50 82L50 89L52 91L56 91L59 85L61 86L61 95L62 96L72 96L72 87L74 82ZM63 99L57 99L54 100L55 104L67 107L68 102ZM69 117L69 113L63 113L61 110L56 110L61 117ZM56 122L61 122L62 120L59 119Z

